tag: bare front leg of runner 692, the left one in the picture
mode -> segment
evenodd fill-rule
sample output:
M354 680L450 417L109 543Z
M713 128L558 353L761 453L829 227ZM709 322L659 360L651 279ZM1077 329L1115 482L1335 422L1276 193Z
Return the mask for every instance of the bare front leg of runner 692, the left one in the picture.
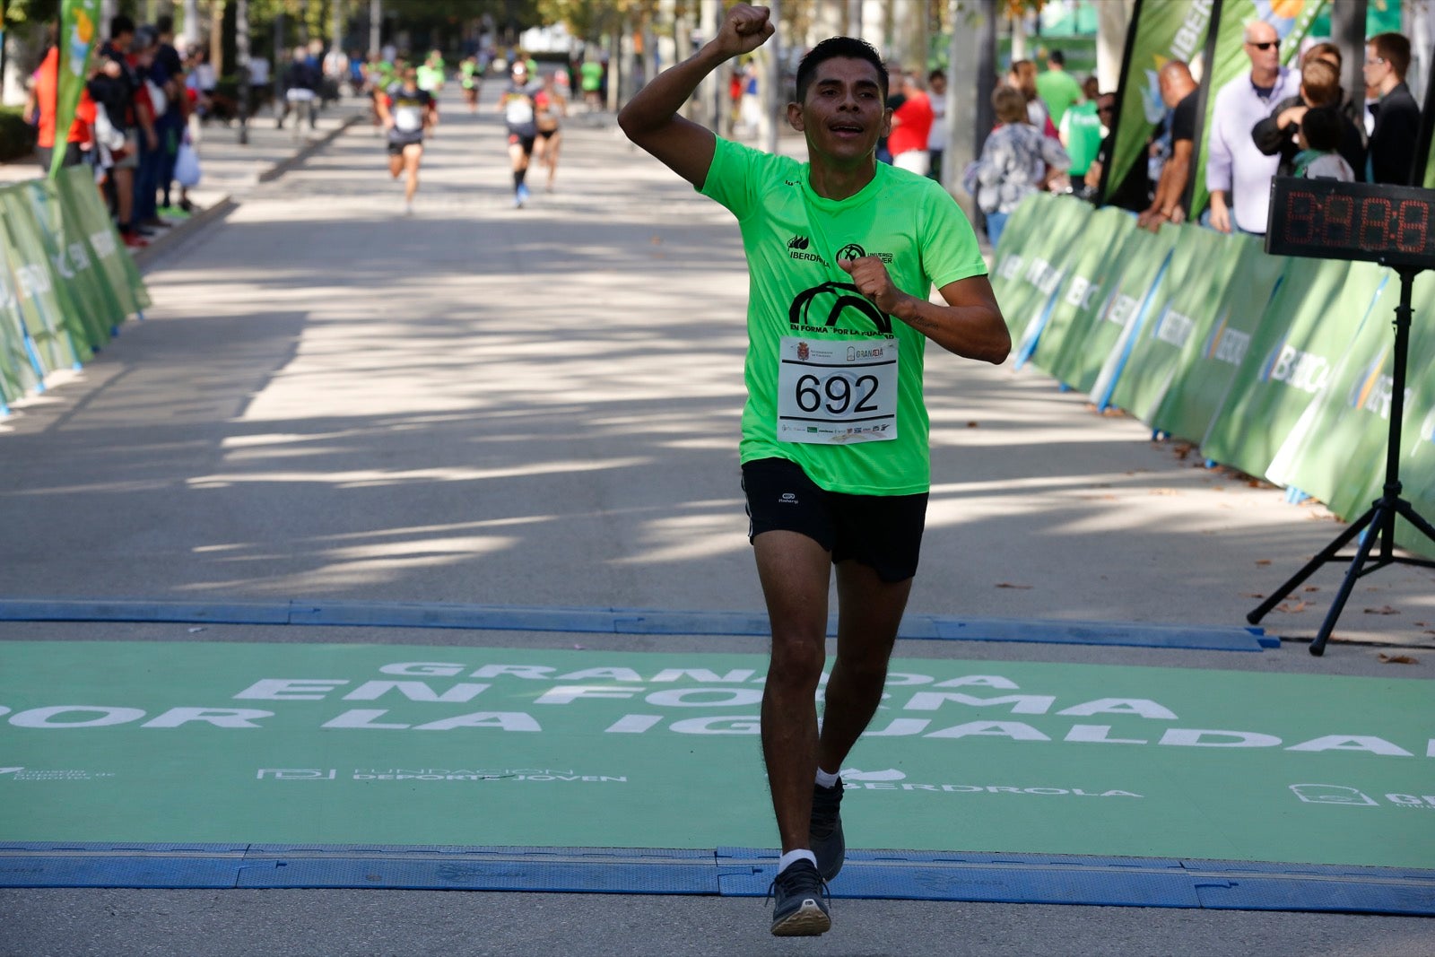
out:
M791 531L753 538L772 620L772 661L762 693L762 756L782 852L808 847L817 776L817 686L827 660L827 591L832 557Z

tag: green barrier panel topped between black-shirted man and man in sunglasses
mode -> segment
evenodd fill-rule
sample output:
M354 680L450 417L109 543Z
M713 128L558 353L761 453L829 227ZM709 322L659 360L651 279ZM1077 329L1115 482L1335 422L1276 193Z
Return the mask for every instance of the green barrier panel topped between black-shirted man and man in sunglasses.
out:
M1187 343L1203 341L1215 324L1244 248L1200 227L1162 228L1180 231L1171 264L1109 399L1148 425L1181 369ZM1096 390L1101 392L1099 382Z

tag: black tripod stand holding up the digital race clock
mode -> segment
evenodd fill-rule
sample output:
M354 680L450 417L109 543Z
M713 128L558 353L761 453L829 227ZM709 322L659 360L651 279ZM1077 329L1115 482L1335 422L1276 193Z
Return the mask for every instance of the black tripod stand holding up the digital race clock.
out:
M1316 640L1310 643L1310 653L1316 656L1325 654L1326 641L1330 638L1330 633L1336 627L1336 618L1340 617L1340 611L1350 598L1350 590L1355 588L1356 578L1362 578L1372 571L1378 571L1392 564L1435 568L1435 561L1395 554L1396 517L1403 518L1422 535L1435 542L1435 527L1421 518L1413 505L1401 498L1401 425L1405 416L1405 357L1409 353L1411 316L1413 314L1413 310L1411 308L1411 288L1415 286L1415 275L1421 271L1421 268L1413 265L1401 265L1396 267L1395 271L1401 275L1401 304L1395 307L1395 395L1391 397L1391 432L1386 439L1385 451L1385 492L1379 499L1376 499L1375 505L1365 512L1365 515L1353 521L1350 527L1340 532L1333 542L1326 545L1320 554L1307 561L1300 571L1292 575L1290 581L1277 588L1276 594L1266 598L1266 601L1260 603L1254 611L1246 616L1247 621L1256 624L1266 617L1267 611L1280 604L1286 595L1294 591L1296 587L1309 578L1320 565L1327 561L1345 561L1346 558L1350 558L1350 568L1346 571L1346 577L1340 583L1340 591L1336 593L1335 601L1330 603L1330 611L1326 613L1326 620L1320 626L1320 633L1316 634ZM1360 544L1355 550L1353 557L1336 554L1368 525L1369 531L1360 538ZM1378 551L1376 542L1379 542ZM1372 555L1372 552L1375 554ZM1366 562L1370 562L1369 568L1366 567Z

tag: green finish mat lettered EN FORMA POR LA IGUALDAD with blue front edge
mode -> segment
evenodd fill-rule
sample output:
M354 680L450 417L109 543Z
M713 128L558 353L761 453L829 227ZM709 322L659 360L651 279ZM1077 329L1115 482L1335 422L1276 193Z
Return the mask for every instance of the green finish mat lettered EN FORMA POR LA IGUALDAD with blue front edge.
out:
M0 884L46 884L57 867L77 884L184 885L155 874L189 859L283 885L330 885L347 871L359 887L428 885L376 882L382 859L436 868L446 885L535 890L616 890L574 877L607 868L630 875L618 890L695 892L663 875L703 871L703 887L716 868L718 885L762 892L772 851L756 848L775 839L756 736L765 664L0 643ZM1058 882L1082 871L1108 888L1175 868L1355 875L1405 900L1340 910L1432 913L1431 690L1393 677L894 660L844 769L854 851L834 892L883 862L908 877L943 862L1035 868ZM96 875L106 855L128 869ZM280 858L287 875L274 877ZM530 865L567 877L521 877ZM940 897L943 881L963 900L1069 900L1010 887L989 898L980 881L950 875L916 881L916 895Z

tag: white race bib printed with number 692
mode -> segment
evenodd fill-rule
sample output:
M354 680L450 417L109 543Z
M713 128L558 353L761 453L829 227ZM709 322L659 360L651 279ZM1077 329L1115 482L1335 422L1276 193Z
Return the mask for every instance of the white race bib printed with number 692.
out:
M778 440L844 445L895 438L895 339L782 337Z

